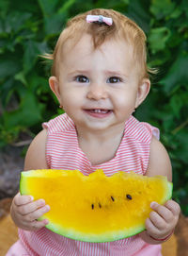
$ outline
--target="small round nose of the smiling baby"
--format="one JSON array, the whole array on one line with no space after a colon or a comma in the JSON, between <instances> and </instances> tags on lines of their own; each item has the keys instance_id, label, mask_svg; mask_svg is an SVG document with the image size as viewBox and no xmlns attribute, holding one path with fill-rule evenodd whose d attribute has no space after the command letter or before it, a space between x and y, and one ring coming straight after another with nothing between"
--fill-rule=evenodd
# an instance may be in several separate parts
<instances>
[{"instance_id":1,"label":"small round nose of the smiling baby","mask_svg":"<svg viewBox=\"0 0 188 256\"><path fill-rule=\"evenodd\" d=\"M88 86L87 98L100 100L108 96L107 88L102 83L92 83Z\"/></svg>"}]
</instances>

